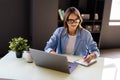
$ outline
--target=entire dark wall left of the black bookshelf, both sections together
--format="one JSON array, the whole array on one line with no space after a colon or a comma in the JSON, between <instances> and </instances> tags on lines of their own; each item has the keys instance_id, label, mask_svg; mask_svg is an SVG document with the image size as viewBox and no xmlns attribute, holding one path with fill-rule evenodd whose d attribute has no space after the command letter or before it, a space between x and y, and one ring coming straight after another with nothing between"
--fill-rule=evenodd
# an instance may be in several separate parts
<instances>
[{"instance_id":1,"label":"entire dark wall left of the black bookshelf, both sections together","mask_svg":"<svg viewBox=\"0 0 120 80\"><path fill-rule=\"evenodd\" d=\"M0 57L13 37L24 37L30 47L43 50L57 28L58 0L0 0Z\"/></svg>"}]
</instances>

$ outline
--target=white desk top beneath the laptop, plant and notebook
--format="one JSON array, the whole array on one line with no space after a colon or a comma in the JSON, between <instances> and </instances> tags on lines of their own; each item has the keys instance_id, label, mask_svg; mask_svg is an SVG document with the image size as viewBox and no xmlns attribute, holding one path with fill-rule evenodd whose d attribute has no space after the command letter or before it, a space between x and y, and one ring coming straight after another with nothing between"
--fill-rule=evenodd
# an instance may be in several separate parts
<instances>
[{"instance_id":1,"label":"white desk top beneath the laptop, plant and notebook","mask_svg":"<svg viewBox=\"0 0 120 80\"><path fill-rule=\"evenodd\" d=\"M69 61L80 57L68 56ZM16 58L14 52L0 60L0 78L17 80L120 80L120 59L98 58L97 63L84 67L79 65L71 74L27 63Z\"/></svg>"}]
</instances>

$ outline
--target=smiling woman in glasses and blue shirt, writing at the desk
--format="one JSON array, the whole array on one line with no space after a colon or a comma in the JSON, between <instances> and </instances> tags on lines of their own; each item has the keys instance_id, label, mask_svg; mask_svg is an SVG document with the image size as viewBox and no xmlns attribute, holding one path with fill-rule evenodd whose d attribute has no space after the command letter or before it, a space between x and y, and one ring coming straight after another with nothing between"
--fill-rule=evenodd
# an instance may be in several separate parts
<instances>
[{"instance_id":1,"label":"smiling woman in glasses and blue shirt, writing at the desk","mask_svg":"<svg viewBox=\"0 0 120 80\"><path fill-rule=\"evenodd\" d=\"M64 15L64 26L55 30L46 44L45 51L52 54L72 54L85 56L90 62L100 55L91 33L81 26L82 17L75 7L70 7Z\"/></svg>"}]
</instances>

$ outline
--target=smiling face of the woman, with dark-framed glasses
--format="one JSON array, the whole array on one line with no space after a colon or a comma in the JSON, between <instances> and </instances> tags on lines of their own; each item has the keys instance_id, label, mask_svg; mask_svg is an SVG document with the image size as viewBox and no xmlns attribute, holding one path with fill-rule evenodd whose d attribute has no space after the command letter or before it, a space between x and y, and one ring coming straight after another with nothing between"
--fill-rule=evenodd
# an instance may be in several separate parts
<instances>
[{"instance_id":1,"label":"smiling face of the woman, with dark-framed glasses","mask_svg":"<svg viewBox=\"0 0 120 80\"><path fill-rule=\"evenodd\" d=\"M75 14L70 14L67 20L67 25L69 31L76 31L77 26L79 25L80 19Z\"/></svg>"}]
</instances>

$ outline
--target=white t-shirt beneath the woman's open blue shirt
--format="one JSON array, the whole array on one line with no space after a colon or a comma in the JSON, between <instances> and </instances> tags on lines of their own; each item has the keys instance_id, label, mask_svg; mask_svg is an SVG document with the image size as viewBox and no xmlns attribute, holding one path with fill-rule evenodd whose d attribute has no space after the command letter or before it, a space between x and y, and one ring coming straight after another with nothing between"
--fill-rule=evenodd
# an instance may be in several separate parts
<instances>
[{"instance_id":1,"label":"white t-shirt beneath the woman's open blue shirt","mask_svg":"<svg viewBox=\"0 0 120 80\"><path fill-rule=\"evenodd\" d=\"M74 54L75 41L76 41L76 35L75 36L69 35L68 43L66 46L66 53L67 54Z\"/></svg>"}]
</instances>

